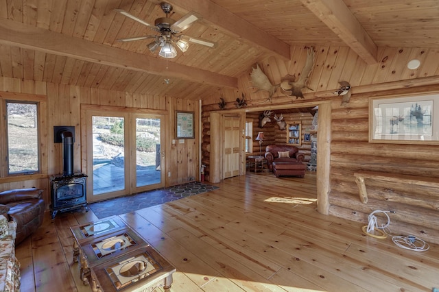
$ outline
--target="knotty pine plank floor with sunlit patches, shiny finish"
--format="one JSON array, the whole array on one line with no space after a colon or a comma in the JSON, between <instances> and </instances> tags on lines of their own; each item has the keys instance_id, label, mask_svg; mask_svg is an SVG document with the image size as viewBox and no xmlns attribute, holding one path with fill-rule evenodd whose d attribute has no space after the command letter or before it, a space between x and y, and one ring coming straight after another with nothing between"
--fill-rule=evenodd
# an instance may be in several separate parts
<instances>
[{"instance_id":1,"label":"knotty pine plank floor with sunlit patches, shiny finish","mask_svg":"<svg viewBox=\"0 0 439 292\"><path fill-rule=\"evenodd\" d=\"M363 223L316 211L316 175L251 173L219 189L125 215L123 221L177 269L174 292L431 291L439 287L438 246L396 247L361 232ZM72 260L69 227L93 212L47 212L16 247L21 291L91 291ZM391 228L391 226L390 226Z\"/></svg>"}]
</instances>

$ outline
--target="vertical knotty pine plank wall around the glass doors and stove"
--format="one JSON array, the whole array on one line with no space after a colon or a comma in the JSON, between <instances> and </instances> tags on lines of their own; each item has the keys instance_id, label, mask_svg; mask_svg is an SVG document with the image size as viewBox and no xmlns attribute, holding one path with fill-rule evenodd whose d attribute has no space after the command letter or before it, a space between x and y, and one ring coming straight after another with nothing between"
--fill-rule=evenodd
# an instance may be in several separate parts
<instances>
[{"instance_id":1,"label":"vertical knotty pine plank wall around the glass doors and stove","mask_svg":"<svg viewBox=\"0 0 439 292\"><path fill-rule=\"evenodd\" d=\"M0 91L12 93L29 93L47 95L47 139L48 169L43 169L47 175L62 173L62 145L54 143L54 125L74 125L74 171L86 173L82 155L81 132L81 105L93 104L98 106L115 106L120 108L142 108L165 110L165 169L166 186L180 184L199 177L199 151L198 151L198 117L200 114L198 101L179 99L174 97L158 97L139 93L126 93L115 90L103 90L99 88L85 88L69 86L65 84L53 84L49 82L33 82L19 80L10 77L0 77ZM195 113L194 129L195 138L180 141L175 140L175 110L193 111ZM172 142L175 142L174 144ZM163 148L162 148L163 149ZM167 173L171 176L168 177ZM91 174L88 174L91 175ZM50 204L49 178L39 180L23 180L19 182L1 183L0 191L11 188L36 187L43 188L44 199L47 208Z\"/></svg>"}]
</instances>

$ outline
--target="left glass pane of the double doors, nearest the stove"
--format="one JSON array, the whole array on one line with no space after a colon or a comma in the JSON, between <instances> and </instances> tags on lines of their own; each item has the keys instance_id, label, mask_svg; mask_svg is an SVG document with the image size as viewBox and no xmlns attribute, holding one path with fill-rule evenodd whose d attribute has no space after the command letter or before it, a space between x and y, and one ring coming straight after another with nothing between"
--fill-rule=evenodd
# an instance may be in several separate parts
<instances>
[{"instance_id":1,"label":"left glass pane of the double doors, nearest the stove","mask_svg":"<svg viewBox=\"0 0 439 292\"><path fill-rule=\"evenodd\" d=\"M125 119L92 117L93 195L125 189Z\"/></svg>"}]
</instances>

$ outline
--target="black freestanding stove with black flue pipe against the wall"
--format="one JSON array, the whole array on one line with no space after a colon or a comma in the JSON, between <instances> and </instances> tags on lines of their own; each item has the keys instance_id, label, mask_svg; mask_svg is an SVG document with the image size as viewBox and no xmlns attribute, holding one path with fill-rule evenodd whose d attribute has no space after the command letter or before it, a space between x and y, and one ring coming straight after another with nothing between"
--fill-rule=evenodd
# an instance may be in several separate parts
<instances>
[{"instance_id":1,"label":"black freestanding stove with black flue pipe against the wall","mask_svg":"<svg viewBox=\"0 0 439 292\"><path fill-rule=\"evenodd\" d=\"M62 140L62 175L50 178L52 219L58 212L83 208L88 211L86 202L86 177L84 173L73 172L74 133L61 129L55 133ZM56 140L57 141L57 140Z\"/></svg>"}]
</instances>

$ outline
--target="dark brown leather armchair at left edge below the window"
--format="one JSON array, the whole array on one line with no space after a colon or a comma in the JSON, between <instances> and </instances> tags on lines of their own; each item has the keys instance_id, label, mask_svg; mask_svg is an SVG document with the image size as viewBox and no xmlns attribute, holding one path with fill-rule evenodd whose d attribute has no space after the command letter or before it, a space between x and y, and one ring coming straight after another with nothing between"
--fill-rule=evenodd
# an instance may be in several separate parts
<instances>
[{"instance_id":1,"label":"dark brown leather armchair at left edge below the window","mask_svg":"<svg viewBox=\"0 0 439 292\"><path fill-rule=\"evenodd\" d=\"M15 244L18 245L43 224L45 202L43 190L20 188L0 193L0 214L16 221Z\"/></svg>"}]
</instances>

